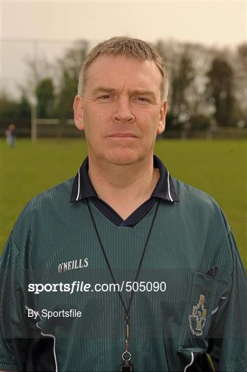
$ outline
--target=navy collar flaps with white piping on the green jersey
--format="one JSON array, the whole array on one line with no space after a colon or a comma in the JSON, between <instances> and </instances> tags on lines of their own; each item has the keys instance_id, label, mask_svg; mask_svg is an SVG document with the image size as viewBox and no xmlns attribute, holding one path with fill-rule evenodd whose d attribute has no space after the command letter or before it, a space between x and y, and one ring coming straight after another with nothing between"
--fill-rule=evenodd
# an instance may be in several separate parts
<instances>
[{"instance_id":1,"label":"navy collar flaps with white piping on the green jersey","mask_svg":"<svg viewBox=\"0 0 247 372\"><path fill-rule=\"evenodd\" d=\"M162 161L155 155L153 155L153 167L159 169L160 178L150 198L160 198L170 203L178 202L179 199L175 193L173 179ZM70 202L77 202L84 198L98 198L88 176L88 156L74 178Z\"/></svg>"}]
</instances>

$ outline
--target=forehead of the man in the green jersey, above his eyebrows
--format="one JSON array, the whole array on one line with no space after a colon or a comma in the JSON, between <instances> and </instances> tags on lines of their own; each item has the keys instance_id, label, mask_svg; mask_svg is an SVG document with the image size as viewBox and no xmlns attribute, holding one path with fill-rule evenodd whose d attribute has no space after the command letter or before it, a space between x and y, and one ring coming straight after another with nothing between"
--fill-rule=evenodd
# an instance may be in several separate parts
<instances>
[{"instance_id":1,"label":"forehead of the man in the green jersey, above his eyebrows","mask_svg":"<svg viewBox=\"0 0 247 372\"><path fill-rule=\"evenodd\" d=\"M85 88L111 84L116 89L127 85L131 88L151 89L160 92L162 75L154 61L139 61L126 56L98 56L86 73Z\"/></svg>"}]
</instances>

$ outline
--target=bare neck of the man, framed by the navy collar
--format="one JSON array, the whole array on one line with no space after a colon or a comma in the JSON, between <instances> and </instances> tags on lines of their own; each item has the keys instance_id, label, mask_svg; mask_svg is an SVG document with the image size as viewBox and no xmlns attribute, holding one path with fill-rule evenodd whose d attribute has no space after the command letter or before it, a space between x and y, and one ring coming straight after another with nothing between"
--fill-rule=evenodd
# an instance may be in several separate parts
<instances>
[{"instance_id":1,"label":"bare neck of the man, framed by the navy collar","mask_svg":"<svg viewBox=\"0 0 247 372\"><path fill-rule=\"evenodd\" d=\"M98 197L123 219L150 198L158 182L153 156L130 165L98 162L89 156L89 179Z\"/></svg>"}]
</instances>

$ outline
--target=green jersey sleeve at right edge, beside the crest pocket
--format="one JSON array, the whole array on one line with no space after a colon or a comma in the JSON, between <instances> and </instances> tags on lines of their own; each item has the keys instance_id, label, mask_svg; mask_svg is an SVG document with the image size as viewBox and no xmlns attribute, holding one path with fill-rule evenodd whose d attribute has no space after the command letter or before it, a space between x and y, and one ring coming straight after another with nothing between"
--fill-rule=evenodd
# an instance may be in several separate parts
<instances>
[{"instance_id":1,"label":"green jersey sleeve at right edge, beside the crest pocket","mask_svg":"<svg viewBox=\"0 0 247 372\"><path fill-rule=\"evenodd\" d=\"M228 231L228 260L232 272L211 327L210 355L216 371L247 371L247 285L235 238Z\"/></svg>"}]
</instances>

